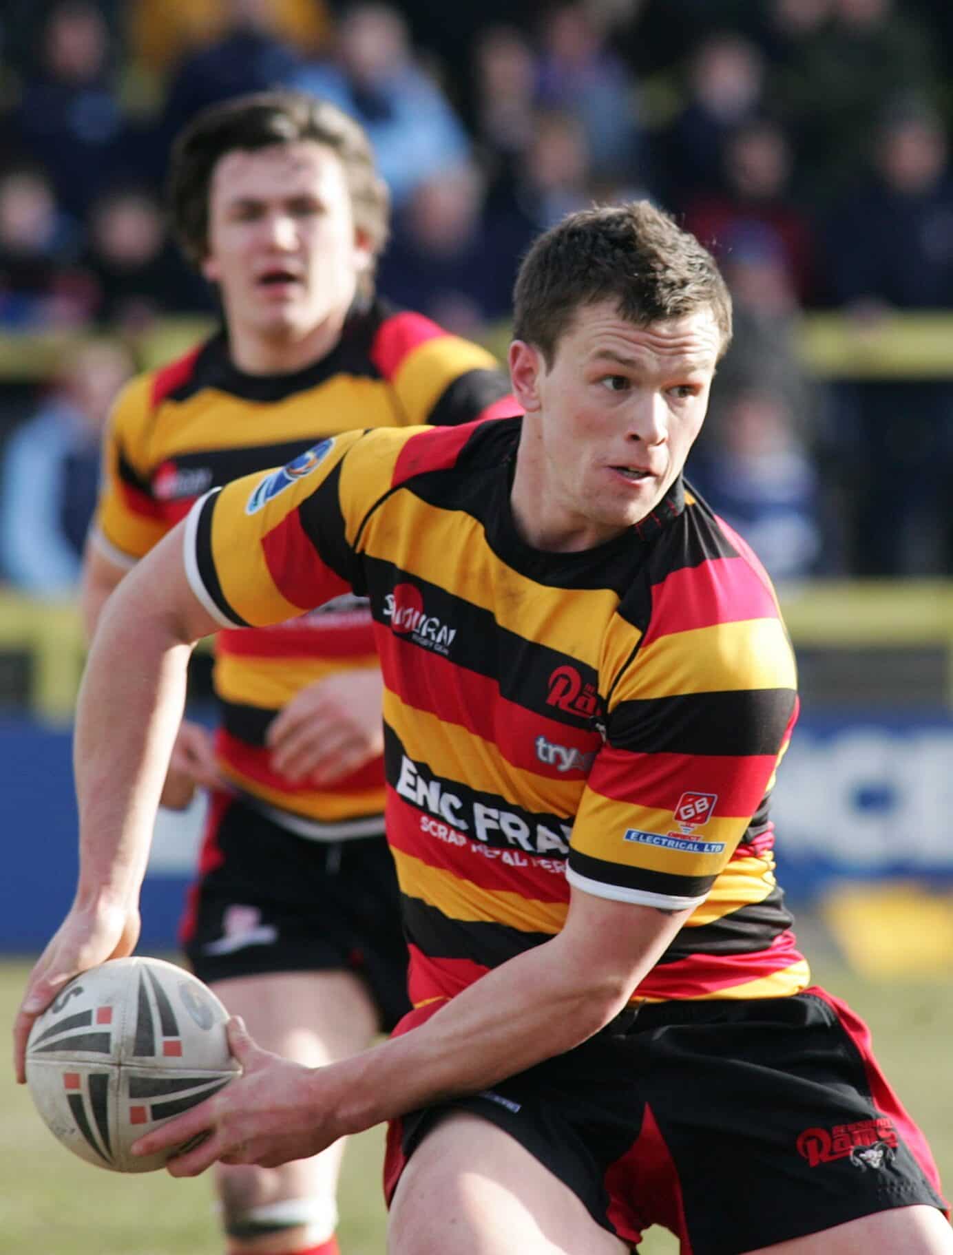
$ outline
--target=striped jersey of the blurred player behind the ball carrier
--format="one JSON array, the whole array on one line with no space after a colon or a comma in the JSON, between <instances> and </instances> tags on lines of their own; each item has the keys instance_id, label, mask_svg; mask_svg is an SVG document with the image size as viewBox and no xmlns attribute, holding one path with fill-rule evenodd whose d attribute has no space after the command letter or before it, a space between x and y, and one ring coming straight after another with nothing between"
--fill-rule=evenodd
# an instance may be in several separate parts
<instances>
[{"instance_id":1,"label":"striped jersey of the blurred player behind the ball carrier","mask_svg":"<svg viewBox=\"0 0 953 1255\"><path fill-rule=\"evenodd\" d=\"M353 312L338 346L295 374L244 374L218 335L121 397L94 540L109 558L132 565L208 488L290 462L323 435L467 423L500 409L512 414L516 403L486 350L382 301ZM220 633L215 688L226 774L286 826L328 838L380 832L379 758L316 789L277 776L265 748L269 723L304 685L375 664L367 600L349 592L288 624Z\"/></svg>"}]
</instances>

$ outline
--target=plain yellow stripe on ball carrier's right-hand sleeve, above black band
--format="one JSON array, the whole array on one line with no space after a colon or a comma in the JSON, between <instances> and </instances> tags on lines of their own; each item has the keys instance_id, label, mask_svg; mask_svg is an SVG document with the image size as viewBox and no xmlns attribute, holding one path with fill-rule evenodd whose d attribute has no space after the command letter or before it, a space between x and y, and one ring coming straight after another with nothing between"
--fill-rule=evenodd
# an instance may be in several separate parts
<instances>
[{"instance_id":1,"label":"plain yellow stripe on ball carrier's right-hand sleeve, above black band","mask_svg":"<svg viewBox=\"0 0 953 1255\"><path fill-rule=\"evenodd\" d=\"M778 619L672 633L644 646L629 698L741 689L794 689L795 664Z\"/></svg>"}]
</instances>

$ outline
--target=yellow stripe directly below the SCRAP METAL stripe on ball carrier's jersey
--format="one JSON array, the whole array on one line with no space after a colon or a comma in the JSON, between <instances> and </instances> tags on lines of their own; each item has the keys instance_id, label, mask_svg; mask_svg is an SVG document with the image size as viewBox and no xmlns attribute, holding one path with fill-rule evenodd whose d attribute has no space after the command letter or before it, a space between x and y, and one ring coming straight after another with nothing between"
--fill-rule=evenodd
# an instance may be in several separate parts
<instances>
[{"instance_id":1,"label":"yellow stripe directly below the SCRAP METAL stripe on ball carrier's jersey","mask_svg":"<svg viewBox=\"0 0 953 1255\"><path fill-rule=\"evenodd\" d=\"M413 855L390 848L401 891L434 906L447 919L462 924L502 924L520 932L554 936L566 922L566 902L541 902L522 894L481 889L450 871L429 867Z\"/></svg>"}]
</instances>

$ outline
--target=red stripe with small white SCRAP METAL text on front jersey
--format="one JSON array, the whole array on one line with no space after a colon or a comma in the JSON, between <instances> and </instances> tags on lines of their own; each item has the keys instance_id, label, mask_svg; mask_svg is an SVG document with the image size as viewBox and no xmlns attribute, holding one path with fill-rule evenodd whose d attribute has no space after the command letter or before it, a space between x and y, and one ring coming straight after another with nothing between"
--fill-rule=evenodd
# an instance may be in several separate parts
<instances>
[{"instance_id":1,"label":"red stripe with small white SCRAP METAL text on front jersey","mask_svg":"<svg viewBox=\"0 0 953 1255\"><path fill-rule=\"evenodd\" d=\"M561 832L557 836L565 840ZM550 856L530 855L519 846L490 846L473 836L470 827L455 828L439 816L418 809L390 786L387 788L387 840L401 853L490 894L516 894L536 902L569 901L565 855L555 850ZM503 855L509 855L510 861L503 861ZM516 856L525 861L515 865Z\"/></svg>"}]
</instances>

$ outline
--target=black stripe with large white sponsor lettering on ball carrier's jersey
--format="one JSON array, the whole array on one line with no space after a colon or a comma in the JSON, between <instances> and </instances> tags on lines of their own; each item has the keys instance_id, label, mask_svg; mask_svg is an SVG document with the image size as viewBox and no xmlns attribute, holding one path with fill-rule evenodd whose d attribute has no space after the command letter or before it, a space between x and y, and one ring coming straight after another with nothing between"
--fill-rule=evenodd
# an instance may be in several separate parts
<instances>
[{"instance_id":1,"label":"black stripe with large white sponsor lettering on ball carrier's jersey","mask_svg":"<svg viewBox=\"0 0 953 1255\"><path fill-rule=\"evenodd\" d=\"M384 774L390 788L411 806L446 820L492 850L517 850L546 858L564 858L569 850L568 816L525 811L498 793L485 793L437 776L427 763L404 752L388 724L384 724Z\"/></svg>"}]
</instances>

